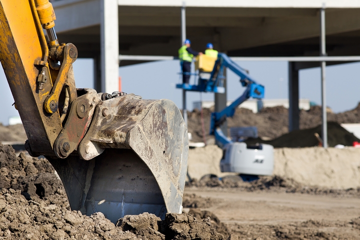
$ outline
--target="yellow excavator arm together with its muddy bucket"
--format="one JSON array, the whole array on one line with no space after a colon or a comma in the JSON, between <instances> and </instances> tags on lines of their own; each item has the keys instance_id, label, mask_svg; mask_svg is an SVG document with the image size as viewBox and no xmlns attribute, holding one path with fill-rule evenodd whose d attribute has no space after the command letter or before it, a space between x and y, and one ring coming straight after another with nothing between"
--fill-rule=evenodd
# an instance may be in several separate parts
<instances>
[{"instance_id":1,"label":"yellow excavator arm together with its muddy bucket","mask_svg":"<svg viewBox=\"0 0 360 240\"><path fill-rule=\"evenodd\" d=\"M54 166L72 210L113 222L181 212L188 138L179 109L166 99L76 89L77 49L58 43L55 19L48 0L0 0L0 61L26 150Z\"/></svg>"}]
</instances>

